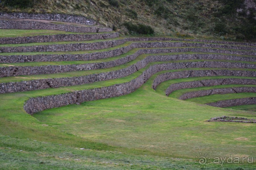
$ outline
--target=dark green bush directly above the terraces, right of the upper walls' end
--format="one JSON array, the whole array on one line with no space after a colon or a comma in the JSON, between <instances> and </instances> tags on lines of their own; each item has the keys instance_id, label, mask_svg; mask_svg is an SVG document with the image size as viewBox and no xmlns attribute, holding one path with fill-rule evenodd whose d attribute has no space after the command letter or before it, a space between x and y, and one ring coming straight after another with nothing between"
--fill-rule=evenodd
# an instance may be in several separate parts
<instances>
[{"instance_id":1,"label":"dark green bush directly above the terraces, right of the upper walls' end","mask_svg":"<svg viewBox=\"0 0 256 170\"><path fill-rule=\"evenodd\" d=\"M132 34L154 34L154 29L148 25L144 25L144 24L135 25L132 22L125 22L123 25Z\"/></svg>"}]
</instances>

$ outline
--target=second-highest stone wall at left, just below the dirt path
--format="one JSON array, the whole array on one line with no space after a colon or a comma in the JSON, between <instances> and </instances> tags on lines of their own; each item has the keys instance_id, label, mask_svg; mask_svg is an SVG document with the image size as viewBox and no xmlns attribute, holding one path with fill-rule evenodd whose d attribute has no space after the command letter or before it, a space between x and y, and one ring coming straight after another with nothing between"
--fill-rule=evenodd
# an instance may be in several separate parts
<instances>
[{"instance_id":1,"label":"second-highest stone wall at left, just below the dirt path","mask_svg":"<svg viewBox=\"0 0 256 170\"><path fill-rule=\"evenodd\" d=\"M69 24L54 24L49 22L40 21L24 21L24 20L4 20L0 19L0 29L49 29L68 31L75 33L98 33L98 32L110 32L113 31L111 28L101 27L86 27L86 26L75 26Z\"/></svg>"}]
</instances>

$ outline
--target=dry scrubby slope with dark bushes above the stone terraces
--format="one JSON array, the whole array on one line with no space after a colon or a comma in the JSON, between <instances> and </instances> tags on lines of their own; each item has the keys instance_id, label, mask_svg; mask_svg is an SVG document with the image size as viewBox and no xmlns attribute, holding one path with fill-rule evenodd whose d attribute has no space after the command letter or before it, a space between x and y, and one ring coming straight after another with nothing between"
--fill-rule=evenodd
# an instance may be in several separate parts
<instances>
[{"instance_id":1,"label":"dry scrubby slope with dark bushes above the stone terraces","mask_svg":"<svg viewBox=\"0 0 256 170\"><path fill-rule=\"evenodd\" d=\"M248 0L3 0L1 11L84 15L129 32L124 23L150 25L156 35L256 39L256 2ZM130 29L131 30L131 29Z\"/></svg>"}]
</instances>

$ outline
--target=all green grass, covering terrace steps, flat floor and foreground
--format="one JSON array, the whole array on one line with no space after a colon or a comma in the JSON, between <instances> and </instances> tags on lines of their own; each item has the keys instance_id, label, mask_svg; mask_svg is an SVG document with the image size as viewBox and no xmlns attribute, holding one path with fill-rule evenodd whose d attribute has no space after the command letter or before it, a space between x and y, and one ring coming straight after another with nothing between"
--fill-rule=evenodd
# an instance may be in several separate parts
<instances>
[{"instance_id":1,"label":"all green grass, covering terrace steps, flat floor and foreground","mask_svg":"<svg viewBox=\"0 0 256 170\"><path fill-rule=\"evenodd\" d=\"M32 36L58 34L58 31L45 30L0 30L5 36ZM1 33L1 32L0 32ZM116 39L122 39L119 37ZM110 40L110 39L108 39ZM101 42L93 40L83 42ZM79 41L80 42L80 41ZM31 45L70 44L77 42L33 43ZM128 46L125 42L119 46L91 51L72 52L20 52L1 53L1 55L36 55L36 54L86 54L110 51ZM0 45L24 46L22 45ZM186 47L181 47L186 48ZM193 48L193 47L189 47ZM86 64L114 61L134 54L135 48L120 56L89 61L26 62L0 64L8 66L44 66ZM236 51L236 50L230 50ZM47 75L23 75L1 77L0 83L30 81L45 78L85 76L127 68L138 61L156 55L177 54L217 54L217 53L164 53L142 54L136 59L106 69L72 71ZM221 54L226 55L226 54ZM255 57L236 55L243 57ZM253 170L256 163L215 164L214 157L255 157L256 124L232 122L207 122L217 116L238 116L256 118L255 105L218 108L205 103L256 97L256 93L214 94L188 100L178 98L187 92L213 88L256 87L256 85L218 85L211 87L176 90L169 96L165 90L173 83L206 79L240 78L241 76L204 76L172 79L152 88L154 79L167 72L183 70L223 70L223 68L186 68L158 72L151 76L136 91L115 97L80 105L68 105L47 109L29 115L23 105L32 97L64 94L77 90L101 88L118 83L129 82L140 76L151 65L161 63L179 63L191 61L226 61L226 60L178 60L148 63L145 68L135 73L101 82L60 88L48 88L16 93L0 94L0 169L174 169L174 170ZM231 63L256 62L226 61ZM226 69L250 70L256 69ZM83 149L80 149L83 148ZM206 165L199 164L199 157L207 154Z\"/></svg>"}]
</instances>

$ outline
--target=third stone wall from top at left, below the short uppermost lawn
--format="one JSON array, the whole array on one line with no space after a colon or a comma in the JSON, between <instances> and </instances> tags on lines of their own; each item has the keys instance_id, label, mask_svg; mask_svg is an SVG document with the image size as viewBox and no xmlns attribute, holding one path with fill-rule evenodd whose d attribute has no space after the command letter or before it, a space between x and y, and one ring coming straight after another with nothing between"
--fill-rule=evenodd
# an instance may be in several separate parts
<instances>
[{"instance_id":1,"label":"third stone wall from top at left, below the short uppermost lawn","mask_svg":"<svg viewBox=\"0 0 256 170\"><path fill-rule=\"evenodd\" d=\"M0 38L0 44L24 44L35 42L57 42L57 41L87 41L95 39L110 39L119 37L119 33L100 33L100 34L56 34L56 35L37 35L29 37L4 37Z\"/></svg>"}]
</instances>

